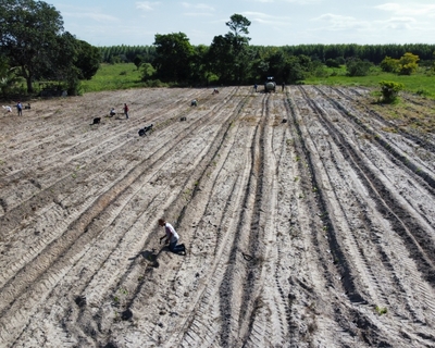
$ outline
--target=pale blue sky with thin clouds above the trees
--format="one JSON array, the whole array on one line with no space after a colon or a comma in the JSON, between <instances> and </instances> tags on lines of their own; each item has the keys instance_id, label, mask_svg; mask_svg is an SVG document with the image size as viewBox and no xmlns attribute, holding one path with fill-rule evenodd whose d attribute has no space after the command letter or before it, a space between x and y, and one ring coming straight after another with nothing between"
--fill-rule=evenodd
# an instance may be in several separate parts
<instances>
[{"instance_id":1,"label":"pale blue sky with thin clouds above the trees","mask_svg":"<svg viewBox=\"0 0 435 348\"><path fill-rule=\"evenodd\" d=\"M191 45L226 34L238 13L251 21L250 45L435 44L434 0L46 0L64 29L94 46L152 45L182 32Z\"/></svg>"}]
</instances>

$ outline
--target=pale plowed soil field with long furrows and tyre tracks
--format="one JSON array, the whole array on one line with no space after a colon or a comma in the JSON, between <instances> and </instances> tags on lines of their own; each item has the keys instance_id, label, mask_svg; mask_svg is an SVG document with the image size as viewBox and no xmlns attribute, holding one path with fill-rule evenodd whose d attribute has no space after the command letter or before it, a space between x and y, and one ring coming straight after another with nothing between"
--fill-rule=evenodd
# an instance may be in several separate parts
<instances>
[{"instance_id":1,"label":"pale plowed soil field with long furrows and tyre tracks","mask_svg":"<svg viewBox=\"0 0 435 348\"><path fill-rule=\"evenodd\" d=\"M135 89L2 114L0 346L434 347L435 103L372 101Z\"/></svg>"}]
</instances>

